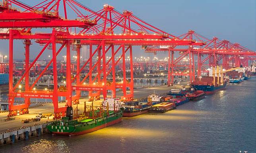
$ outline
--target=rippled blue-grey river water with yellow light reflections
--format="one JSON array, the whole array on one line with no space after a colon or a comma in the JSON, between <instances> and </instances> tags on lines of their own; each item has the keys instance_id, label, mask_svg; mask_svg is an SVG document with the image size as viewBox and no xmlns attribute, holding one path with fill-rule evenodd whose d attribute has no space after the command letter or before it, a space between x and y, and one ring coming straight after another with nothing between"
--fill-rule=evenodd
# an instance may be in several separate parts
<instances>
[{"instance_id":1,"label":"rippled blue-grey river water with yellow light reflections","mask_svg":"<svg viewBox=\"0 0 256 153\"><path fill-rule=\"evenodd\" d=\"M31 138L0 147L27 153L256 153L256 77L163 114L123 118L80 136Z\"/></svg>"}]
</instances>

